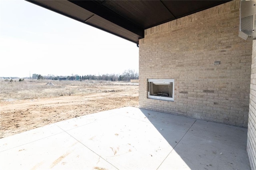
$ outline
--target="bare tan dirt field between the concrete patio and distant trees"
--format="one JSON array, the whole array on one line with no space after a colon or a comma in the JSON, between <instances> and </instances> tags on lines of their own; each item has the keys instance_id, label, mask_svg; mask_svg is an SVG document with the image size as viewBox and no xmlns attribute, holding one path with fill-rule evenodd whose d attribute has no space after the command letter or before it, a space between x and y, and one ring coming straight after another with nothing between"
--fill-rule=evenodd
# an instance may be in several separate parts
<instances>
[{"instance_id":1,"label":"bare tan dirt field between the concrete patio and distant trees","mask_svg":"<svg viewBox=\"0 0 256 170\"><path fill-rule=\"evenodd\" d=\"M31 97L24 94L25 90L30 91L25 89L28 82L23 86L20 82L7 84L15 86L16 83L23 87L17 92L12 92L14 94L7 94L11 90L7 90L7 85L4 88L4 83L1 82L0 138L82 115L125 106L138 107L138 84L135 83L81 81L75 84L58 84L41 89L40 91L44 91L43 95L33 92L36 96L34 98L33 95ZM44 88L47 86L45 82L34 84L40 84ZM49 95L51 91L56 93L57 90L62 91L58 93L60 96ZM19 97L15 97L15 93L30 97L17 99Z\"/></svg>"}]
</instances>

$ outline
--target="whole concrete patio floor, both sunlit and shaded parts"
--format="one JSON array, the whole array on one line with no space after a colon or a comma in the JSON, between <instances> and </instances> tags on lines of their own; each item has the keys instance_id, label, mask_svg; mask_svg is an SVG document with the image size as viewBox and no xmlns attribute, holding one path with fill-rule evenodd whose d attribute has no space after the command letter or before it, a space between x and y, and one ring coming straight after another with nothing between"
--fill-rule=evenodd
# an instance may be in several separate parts
<instances>
[{"instance_id":1,"label":"whole concrete patio floor, both sunlit and shaded parts","mask_svg":"<svg viewBox=\"0 0 256 170\"><path fill-rule=\"evenodd\" d=\"M249 170L247 129L124 107L0 139L0 170Z\"/></svg>"}]
</instances>

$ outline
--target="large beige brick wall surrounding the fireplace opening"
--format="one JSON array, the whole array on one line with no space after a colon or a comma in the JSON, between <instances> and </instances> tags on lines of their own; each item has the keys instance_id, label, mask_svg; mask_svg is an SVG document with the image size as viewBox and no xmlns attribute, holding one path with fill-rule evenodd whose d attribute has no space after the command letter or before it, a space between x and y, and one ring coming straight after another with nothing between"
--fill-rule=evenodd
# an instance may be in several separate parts
<instances>
[{"instance_id":1,"label":"large beige brick wall surrounding the fireplace opening","mask_svg":"<svg viewBox=\"0 0 256 170\"><path fill-rule=\"evenodd\" d=\"M227 2L145 30L140 108L247 127L252 41L238 37L239 5ZM174 79L174 102L147 99L147 79Z\"/></svg>"}]
</instances>

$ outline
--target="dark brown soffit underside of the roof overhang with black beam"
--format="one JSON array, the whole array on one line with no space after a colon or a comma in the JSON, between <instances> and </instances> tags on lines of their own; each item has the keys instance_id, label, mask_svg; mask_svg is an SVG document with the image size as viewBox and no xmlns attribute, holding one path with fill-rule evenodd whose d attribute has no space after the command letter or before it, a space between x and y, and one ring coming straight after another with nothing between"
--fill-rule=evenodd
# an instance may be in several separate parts
<instances>
[{"instance_id":1,"label":"dark brown soffit underside of the roof overhang with black beam","mask_svg":"<svg viewBox=\"0 0 256 170\"><path fill-rule=\"evenodd\" d=\"M74 20L138 43L144 30L230 0L28 0Z\"/></svg>"}]
</instances>

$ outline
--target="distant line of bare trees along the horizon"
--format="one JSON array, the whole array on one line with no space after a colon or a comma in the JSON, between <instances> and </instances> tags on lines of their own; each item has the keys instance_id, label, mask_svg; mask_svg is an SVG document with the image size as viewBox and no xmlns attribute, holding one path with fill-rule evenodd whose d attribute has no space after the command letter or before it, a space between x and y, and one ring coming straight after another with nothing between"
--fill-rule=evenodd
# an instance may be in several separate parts
<instances>
[{"instance_id":1,"label":"distant line of bare trees along the horizon","mask_svg":"<svg viewBox=\"0 0 256 170\"><path fill-rule=\"evenodd\" d=\"M47 79L47 80L59 80L62 77L66 77L67 80L76 80L76 76L55 76L48 74L42 76L40 74L33 74L32 79ZM121 75L118 74L103 74L103 75L82 75L79 76L80 80L106 80L106 81L130 81L131 79L139 79L139 75L134 70L125 70Z\"/></svg>"}]
</instances>

